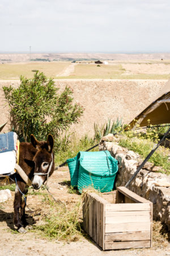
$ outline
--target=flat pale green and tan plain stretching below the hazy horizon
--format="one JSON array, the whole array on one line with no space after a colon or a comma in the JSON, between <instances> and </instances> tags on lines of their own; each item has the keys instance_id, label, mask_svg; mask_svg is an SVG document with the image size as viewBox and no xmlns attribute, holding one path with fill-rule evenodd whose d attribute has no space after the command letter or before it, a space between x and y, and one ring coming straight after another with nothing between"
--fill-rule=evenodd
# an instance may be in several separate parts
<instances>
[{"instance_id":1,"label":"flat pale green and tan plain stretching below the hazy horizon","mask_svg":"<svg viewBox=\"0 0 170 256\"><path fill-rule=\"evenodd\" d=\"M130 64L134 66L134 63ZM170 71L169 63L159 63L161 72L159 67L157 68L158 72L156 72L156 69L153 72L153 67L156 63L145 63L147 66L143 70L140 69L141 65L139 64L142 63L135 63L136 68L130 72L123 68L123 62L122 64L100 64L99 66L92 63L78 63L73 66L70 72L66 71L67 67L73 65L71 61L0 64L0 80L18 80L20 75L31 78L36 70L44 72L47 77L52 77L53 79L170 79L170 72L167 72L167 68ZM151 71L151 73L148 71Z\"/></svg>"}]
</instances>

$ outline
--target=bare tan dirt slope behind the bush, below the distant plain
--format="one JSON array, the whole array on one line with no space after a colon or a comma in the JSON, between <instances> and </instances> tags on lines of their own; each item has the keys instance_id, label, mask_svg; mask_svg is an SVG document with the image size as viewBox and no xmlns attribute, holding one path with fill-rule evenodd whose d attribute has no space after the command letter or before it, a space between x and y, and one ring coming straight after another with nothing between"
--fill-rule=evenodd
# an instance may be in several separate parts
<instances>
[{"instance_id":1,"label":"bare tan dirt slope behind the bush, below the distant plain","mask_svg":"<svg viewBox=\"0 0 170 256\"><path fill-rule=\"evenodd\" d=\"M103 124L122 118L129 123L137 114L150 104L160 92L167 80L55 80L58 88L65 86L73 89L76 102L84 107L80 122L72 127L78 136L94 134L94 122ZM8 120L7 106L2 86L18 86L19 81L0 81L0 112L1 122ZM6 127L7 129L7 127ZM6 130L4 130L6 131Z\"/></svg>"}]
</instances>

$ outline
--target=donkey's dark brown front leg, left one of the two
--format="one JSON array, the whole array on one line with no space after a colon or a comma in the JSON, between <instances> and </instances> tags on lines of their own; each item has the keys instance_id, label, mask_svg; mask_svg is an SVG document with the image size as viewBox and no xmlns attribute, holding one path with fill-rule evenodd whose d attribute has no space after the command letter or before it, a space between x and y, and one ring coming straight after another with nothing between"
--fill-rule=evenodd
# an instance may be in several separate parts
<instances>
[{"instance_id":1,"label":"donkey's dark brown front leg, left one of the two","mask_svg":"<svg viewBox=\"0 0 170 256\"><path fill-rule=\"evenodd\" d=\"M19 209L21 207L21 200L22 200L22 193L20 193L20 191L22 192L24 191L25 184L23 182L18 181L18 186L16 186L15 198L14 198L14 225L19 230L20 228L22 228L22 224L20 222L20 214L19 214ZM21 229L21 232L24 233L24 229L23 230L22 229Z\"/></svg>"}]
</instances>

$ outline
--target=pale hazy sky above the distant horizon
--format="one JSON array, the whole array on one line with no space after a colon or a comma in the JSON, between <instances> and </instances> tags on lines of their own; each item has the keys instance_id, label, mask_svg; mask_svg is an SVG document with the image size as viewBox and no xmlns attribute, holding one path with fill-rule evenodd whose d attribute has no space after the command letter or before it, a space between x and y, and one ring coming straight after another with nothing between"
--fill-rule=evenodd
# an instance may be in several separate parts
<instances>
[{"instance_id":1,"label":"pale hazy sky above the distant horizon","mask_svg":"<svg viewBox=\"0 0 170 256\"><path fill-rule=\"evenodd\" d=\"M169 0L0 0L0 52L170 52Z\"/></svg>"}]
</instances>

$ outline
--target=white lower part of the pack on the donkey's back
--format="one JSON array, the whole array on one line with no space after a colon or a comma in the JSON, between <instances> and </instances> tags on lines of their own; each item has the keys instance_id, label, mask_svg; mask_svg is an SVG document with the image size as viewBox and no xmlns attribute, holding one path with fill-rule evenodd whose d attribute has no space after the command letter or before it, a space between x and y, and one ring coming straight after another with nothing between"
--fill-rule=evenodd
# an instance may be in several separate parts
<instances>
[{"instance_id":1,"label":"white lower part of the pack on the donkey's back","mask_svg":"<svg viewBox=\"0 0 170 256\"><path fill-rule=\"evenodd\" d=\"M0 154L0 176L14 174L16 163L16 152L7 151Z\"/></svg>"}]
</instances>

